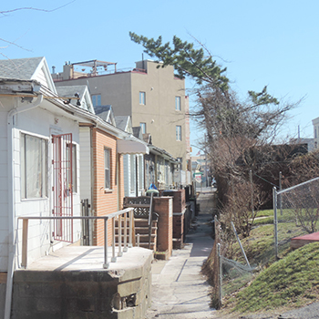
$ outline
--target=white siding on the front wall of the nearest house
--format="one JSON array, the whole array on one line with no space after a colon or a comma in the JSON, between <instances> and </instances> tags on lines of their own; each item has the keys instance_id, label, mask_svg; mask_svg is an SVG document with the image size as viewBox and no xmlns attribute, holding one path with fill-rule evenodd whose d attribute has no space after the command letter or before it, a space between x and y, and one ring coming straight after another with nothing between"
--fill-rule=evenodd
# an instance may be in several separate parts
<instances>
[{"instance_id":1,"label":"white siding on the front wall of the nearest house","mask_svg":"<svg viewBox=\"0 0 319 319\"><path fill-rule=\"evenodd\" d=\"M8 257L8 216L9 213L9 202L8 196L8 171L9 167L7 164L7 114L11 108L15 106L23 105L20 99L2 99L2 104L4 105L4 111L0 112L0 271L7 270L7 257ZM16 105L15 105L16 104ZM44 109L44 108L46 109ZM52 143L51 135L56 132L61 133L72 133L73 141L78 146L78 125L77 123L65 116L57 116L51 113L47 109L48 102L44 101L40 107L36 109L30 109L26 112L15 115L15 128L13 129L13 168L14 168L14 180L13 180L13 196L15 201L14 214L15 214L15 225L14 230L10 232L17 232L17 263L21 262L21 252L22 252L22 221L17 221L17 217L23 216L51 216L52 213ZM58 122L58 126L57 123ZM20 169L20 139L21 133L26 133L32 136L40 137L47 140L47 194L48 197L41 199L22 199L21 198L21 169ZM79 185L78 180L78 159L77 154L77 185ZM80 212L80 201L79 201L79 189L74 192L73 196L73 215L77 216ZM10 203L11 204L11 203ZM28 262L33 262L37 258L46 254L51 247L53 222L51 221L29 221L28 229ZM80 221L74 221L73 223L73 242L77 242L80 238L81 233L81 223Z\"/></svg>"}]
</instances>

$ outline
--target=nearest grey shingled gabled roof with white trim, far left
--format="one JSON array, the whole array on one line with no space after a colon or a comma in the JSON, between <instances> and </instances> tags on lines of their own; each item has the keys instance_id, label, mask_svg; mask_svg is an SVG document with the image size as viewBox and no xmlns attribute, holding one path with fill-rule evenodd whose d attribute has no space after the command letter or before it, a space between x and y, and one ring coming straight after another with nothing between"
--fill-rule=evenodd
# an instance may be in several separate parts
<instances>
[{"instance_id":1,"label":"nearest grey shingled gabled roof with white trim, far left","mask_svg":"<svg viewBox=\"0 0 319 319\"><path fill-rule=\"evenodd\" d=\"M57 93L45 57L28 57L0 60L0 78L37 80Z\"/></svg>"}]
</instances>

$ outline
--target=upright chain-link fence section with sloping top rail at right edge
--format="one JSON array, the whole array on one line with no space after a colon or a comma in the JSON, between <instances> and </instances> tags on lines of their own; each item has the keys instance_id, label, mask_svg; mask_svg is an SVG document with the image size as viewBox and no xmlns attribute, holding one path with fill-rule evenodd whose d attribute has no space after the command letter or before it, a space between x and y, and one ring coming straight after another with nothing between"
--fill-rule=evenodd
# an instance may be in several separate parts
<instances>
[{"instance_id":1,"label":"upright chain-link fence section with sloping top rail at right edge","mask_svg":"<svg viewBox=\"0 0 319 319\"><path fill-rule=\"evenodd\" d=\"M319 178L285 190L273 189L274 255L282 258L294 237L317 232Z\"/></svg>"}]
</instances>

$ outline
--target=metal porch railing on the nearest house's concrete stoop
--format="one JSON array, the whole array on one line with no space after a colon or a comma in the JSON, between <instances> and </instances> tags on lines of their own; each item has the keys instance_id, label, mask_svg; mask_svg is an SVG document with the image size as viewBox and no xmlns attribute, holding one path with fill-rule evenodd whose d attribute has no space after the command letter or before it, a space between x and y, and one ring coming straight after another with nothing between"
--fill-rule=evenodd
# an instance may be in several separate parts
<instances>
[{"instance_id":1,"label":"metal porch railing on the nearest house's concrete stoop","mask_svg":"<svg viewBox=\"0 0 319 319\"><path fill-rule=\"evenodd\" d=\"M108 220L112 221L112 257L111 262L116 262L117 257L115 254L115 219L118 218L118 257L123 255L123 252L127 252L128 248L132 247L135 243L134 234L134 215L133 208L127 208L122 211L116 211L107 216L47 216L47 217L37 217L37 216L24 216L18 217L18 220L23 221L22 225L22 262L21 266L27 266L27 234L28 234L28 222L29 220L104 220L104 263L103 268L108 269ZM129 216L128 216L129 214ZM129 217L129 243L128 243L128 217ZM124 220L124 242L122 247L122 219ZM123 248L123 249L122 249Z\"/></svg>"}]
</instances>

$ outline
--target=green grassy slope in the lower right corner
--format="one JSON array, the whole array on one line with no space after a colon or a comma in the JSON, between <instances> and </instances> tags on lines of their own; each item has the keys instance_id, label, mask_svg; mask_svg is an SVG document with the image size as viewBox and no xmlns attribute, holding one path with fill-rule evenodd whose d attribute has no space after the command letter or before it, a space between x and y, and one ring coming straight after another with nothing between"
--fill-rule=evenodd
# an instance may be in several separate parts
<instances>
[{"instance_id":1,"label":"green grassy slope in the lower right corner","mask_svg":"<svg viewBox=\"0 0 319 319\"><path fill-rule=\"evenodd\" d=\"M274 262L238 293L234 310L256 312L298 307L319 298L319 242L305 245Z\"/></svg>"}]
</instances>

